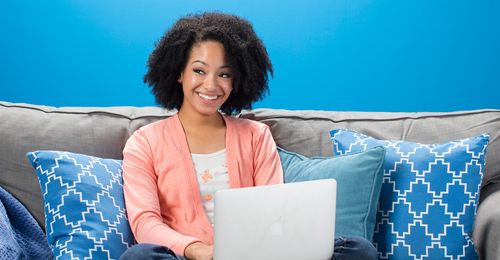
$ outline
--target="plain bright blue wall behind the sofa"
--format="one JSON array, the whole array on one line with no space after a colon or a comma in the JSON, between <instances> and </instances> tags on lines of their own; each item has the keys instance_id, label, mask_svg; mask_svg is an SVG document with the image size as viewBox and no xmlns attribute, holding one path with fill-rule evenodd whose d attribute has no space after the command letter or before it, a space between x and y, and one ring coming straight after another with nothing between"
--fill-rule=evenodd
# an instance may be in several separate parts
<instances>
[{"instance_id":1,"label":"plain bright blue wall behind the sofa","mask_svg":"<svg viewBox=\"0 0 500 260\"><path fill-rule=\"evenodd\" d=\"M250 20L275 67L255 107L500 108L500 1L74 0L0 2L0 100L154 105L154 43L186 13Z\"/></svg>"}]
</instances>

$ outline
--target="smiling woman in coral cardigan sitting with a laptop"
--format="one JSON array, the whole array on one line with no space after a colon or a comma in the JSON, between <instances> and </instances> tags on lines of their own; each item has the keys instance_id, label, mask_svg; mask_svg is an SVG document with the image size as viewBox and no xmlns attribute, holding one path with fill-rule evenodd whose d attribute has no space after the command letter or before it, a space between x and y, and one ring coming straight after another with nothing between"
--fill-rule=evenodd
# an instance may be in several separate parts
<instances>
[{"instance_id":1,"label":"smiling woman in coral cardigan sitting with a laptop","mask_svg":"<svg viewBox=\"0 0 500 260\"><path fill-rule=\"evenodd\" d=\"M122 259L212 259L215 192L283 183L269 128L231 116L266 94L271 62L250 23L203 13L177 21L148 68L156 101L178 113L136 131L123 151L127 214L139 244ZM376 257L358 238L337 239L336 248Z\"/></svg>"}]
</instances>

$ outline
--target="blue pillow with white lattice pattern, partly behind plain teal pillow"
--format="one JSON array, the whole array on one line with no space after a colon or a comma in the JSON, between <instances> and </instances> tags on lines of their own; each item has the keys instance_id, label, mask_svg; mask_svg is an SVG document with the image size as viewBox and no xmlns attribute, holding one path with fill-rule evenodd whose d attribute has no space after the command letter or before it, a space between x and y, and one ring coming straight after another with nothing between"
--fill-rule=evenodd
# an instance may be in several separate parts
<instances>
[{"instance_id":1,"label":"blue pillow with white lattice pattern, partly behind plain teal pillow","mask_svg":"<svg viewBox=\"0 0 500 260\"><path fill-rule=\"evenodd\" d=\"M472 230L489 136L443 144L330 131L335 155L386 148L374 243L383 259L477 259Z\"/></svg>"}]
</instances>

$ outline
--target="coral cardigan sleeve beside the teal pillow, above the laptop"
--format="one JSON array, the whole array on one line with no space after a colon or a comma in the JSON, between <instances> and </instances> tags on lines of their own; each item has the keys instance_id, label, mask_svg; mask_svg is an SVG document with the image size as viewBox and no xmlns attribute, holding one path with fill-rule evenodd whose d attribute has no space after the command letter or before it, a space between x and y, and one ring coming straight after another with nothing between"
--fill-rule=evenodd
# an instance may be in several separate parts
<instances>
[{"instance_id":1,"label":"coral cardigan sleeve beside the teal pillow, above the laptop","mask_svg":"<svg viewBox=\"0 0 500 260\"><path fill-rule=\"evenodd\" d=\"M254 147L255 186L283 183L283 168L269 126L258 128Z\"/></svg>"}]
</instances>

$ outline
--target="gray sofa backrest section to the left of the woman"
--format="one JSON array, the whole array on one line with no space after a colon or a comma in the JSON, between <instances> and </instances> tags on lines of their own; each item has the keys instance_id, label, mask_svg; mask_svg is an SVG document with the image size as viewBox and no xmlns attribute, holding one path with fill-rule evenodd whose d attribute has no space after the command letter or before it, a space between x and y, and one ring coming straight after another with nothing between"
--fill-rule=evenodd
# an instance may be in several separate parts
<instances>
[{"instance_id":1,"label":"gray sofa backrest section to the left of the woman","mask_svg":"<svg viewBox=\"0 0 500 260\"><path fill-rule=\"evenodd\" d=\"M0 186L43 227L40 186L27 152L60 150L121 159L136 129L172 113L154 107L55 108L0 102Z\"/></svg>"}]
</instances>

